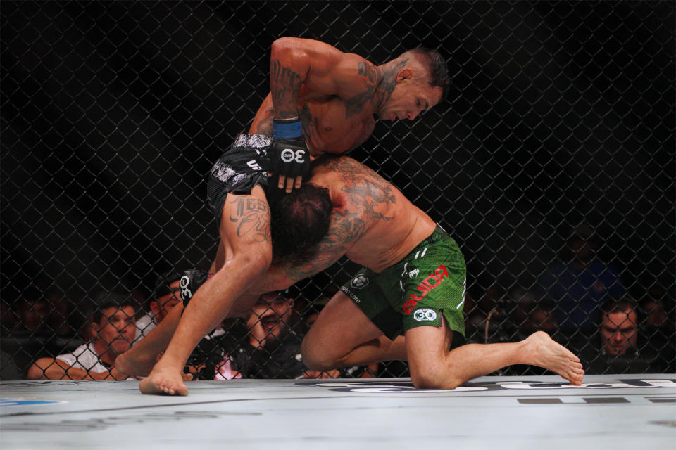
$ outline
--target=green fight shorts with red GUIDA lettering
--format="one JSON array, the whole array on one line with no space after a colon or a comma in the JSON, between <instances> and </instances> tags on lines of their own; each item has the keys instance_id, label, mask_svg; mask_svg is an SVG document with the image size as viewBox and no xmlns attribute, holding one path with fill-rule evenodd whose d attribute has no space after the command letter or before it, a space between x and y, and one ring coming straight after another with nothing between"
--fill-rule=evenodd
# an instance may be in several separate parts
<instances>
[{"instance_id":1,"label":"green fight shorts with red GUIDA lettering","mask_svg":"<svg viewBox=\"0 0 676 450\"><path fill-rule=\"evenodd\" d=\"M453 333L453 344L464 342L465 258L458 244L437 227L399 263L380 274L363 268L342 290L394 340L418 326L442 326Z\"/></svg>"}]
</instances>

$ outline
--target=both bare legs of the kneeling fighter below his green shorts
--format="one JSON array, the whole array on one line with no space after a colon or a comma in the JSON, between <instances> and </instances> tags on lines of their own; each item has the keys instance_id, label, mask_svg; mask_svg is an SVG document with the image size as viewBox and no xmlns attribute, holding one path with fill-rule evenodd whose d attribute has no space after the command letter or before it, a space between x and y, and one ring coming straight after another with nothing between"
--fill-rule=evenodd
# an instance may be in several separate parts
<instances>
[{"instance_id":1,"label":"both bare legs of the kneeling fighter below his green shorts","mask_svg":"<svg viewBox=\"0 0 676 450\"><path fill-rule=\"evenodd\" d=\"M582 383L580 359L542 331L521 342L468 344L452 349L446 325L420 326L392 341L342 292L326 305L303 340L303 362L316 371L408 359L416 387L453 389L513 364L549 369Z\"/></svg>"}]
</instances>

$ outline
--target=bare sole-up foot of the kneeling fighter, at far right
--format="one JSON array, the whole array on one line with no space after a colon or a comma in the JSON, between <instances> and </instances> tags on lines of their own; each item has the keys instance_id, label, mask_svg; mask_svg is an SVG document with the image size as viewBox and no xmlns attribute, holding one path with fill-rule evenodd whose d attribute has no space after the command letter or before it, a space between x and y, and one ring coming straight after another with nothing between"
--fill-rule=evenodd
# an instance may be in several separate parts
<instances>
[{"instance_id":1,"label":"bare sole-up foot of the kneeling fighter, at far right","mask_svg":"<svg viewBox=\"0 0 676 450\"><path fill-rule=\"evenodd\" d=\"M584 371L580 358L563 345L554 342L547 333L536 331L523 342L526 346L527 364L556 372L573 385L582 384Z\"/></svg>"}]
</instances>

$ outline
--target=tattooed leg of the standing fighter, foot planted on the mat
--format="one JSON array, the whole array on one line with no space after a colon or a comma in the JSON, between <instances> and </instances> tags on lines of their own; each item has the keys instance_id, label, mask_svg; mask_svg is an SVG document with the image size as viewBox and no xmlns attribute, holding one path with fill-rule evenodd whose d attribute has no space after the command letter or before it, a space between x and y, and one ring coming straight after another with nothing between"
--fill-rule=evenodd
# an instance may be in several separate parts
<instances>
[{"instance_id":1,"label":"tattooed leg of the standing fighter, foot planted on the mat","mask_svg":"<svg viewBox=\"0 0 676 450\"><path fill-rule=\"evenodd\" d=\"M139 385L144 394L187 395L181 373L189 354L270 266L270 207L261 186L255 186L251 195L227 195L219 233L223 248L217 259L225 256L223 266L193 294L166 352ZM251 301L251 297L243 299ZM252 304L237 304L236 309Z\"/></svg>"}]
</instances>

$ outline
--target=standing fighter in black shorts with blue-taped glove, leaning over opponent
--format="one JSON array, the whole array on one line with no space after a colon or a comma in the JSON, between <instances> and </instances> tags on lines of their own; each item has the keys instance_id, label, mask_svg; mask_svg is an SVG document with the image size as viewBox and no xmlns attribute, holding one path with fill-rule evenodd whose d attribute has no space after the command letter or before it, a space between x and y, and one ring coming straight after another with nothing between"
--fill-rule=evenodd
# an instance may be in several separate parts
<instances>
[{"instance_id":1,"label":"standing fighter in black shorts with blue-taped glove, leaning over opponent","mask_svg":"<svg viewBox=\"0 0 676 450\"><path fill-rule=\"evenodd\" d=\"M181 371L197 342L256 297L241 297L272 259L268 172L292 191L307 174L311 157L344 153L363 143L384 120L413 120L437 105L449 85L438 52L413 49L389 63L374 65L361 56L308 39L277 39L270 54L270 94L258 109L249 134L240 134L216 162L208 200L219 221L220 243L211 278L184 309L176 332L148 378L144 393L187 394ZM273 178L275 180L275 178ZM312 215L310 211L308 214ZM325 229L310 217L297 233L318 242Z\"/></svg>"}]
</instances>

